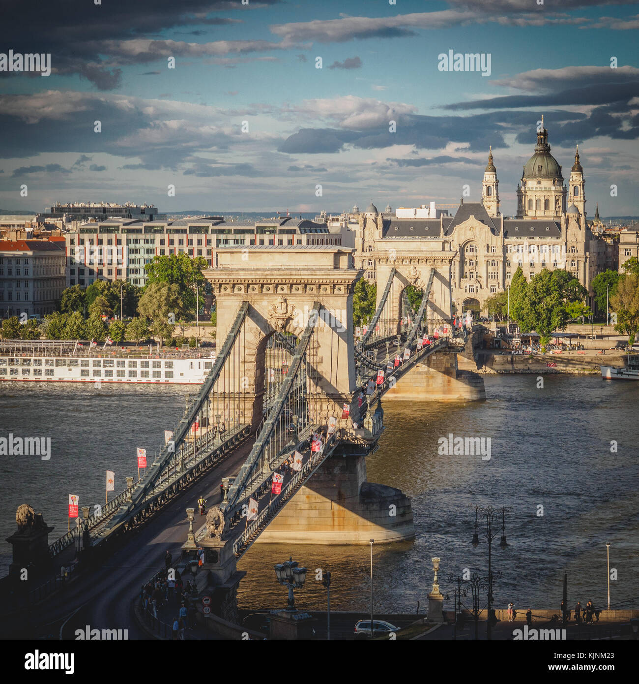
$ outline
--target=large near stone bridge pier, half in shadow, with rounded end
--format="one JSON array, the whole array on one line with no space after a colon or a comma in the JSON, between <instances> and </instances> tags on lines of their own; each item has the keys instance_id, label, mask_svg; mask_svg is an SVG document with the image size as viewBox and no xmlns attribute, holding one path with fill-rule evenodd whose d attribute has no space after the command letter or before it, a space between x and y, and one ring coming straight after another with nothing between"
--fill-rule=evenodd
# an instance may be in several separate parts
<instances>
[{"instance_id":1,"label":"large near stone bridge pier, half in shadow, with rounded end","mask_svg":"<svg viewBox=\"0 0 639 684\"><path fill-rule=\"evenodd\" d=\"M410 499L366 482L364 454L344 447L319 466L256 543L368 544L414 536Z\"/></svg>"}]
</instances>

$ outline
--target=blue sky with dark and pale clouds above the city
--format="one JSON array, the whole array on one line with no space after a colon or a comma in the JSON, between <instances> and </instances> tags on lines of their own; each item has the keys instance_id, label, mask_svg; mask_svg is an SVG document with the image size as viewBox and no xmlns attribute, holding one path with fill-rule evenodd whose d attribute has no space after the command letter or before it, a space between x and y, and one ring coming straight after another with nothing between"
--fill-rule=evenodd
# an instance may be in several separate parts
<instances>
[{"instance_id":1,"label":"blue sky with dark and pale clouds above the city","mask_svg":"<svg viewBox=\"0 0 639 684\"><path fill-rule=\"evenodd\" d=\"M513 215L543 114L566 181L579 145L588 215L639 214L638 3L1 1L0 53L51 74L0 71L0 209L478 201L492 145ZM449 51L483 73L441 70Z\"/></svg>"}]
</instances>

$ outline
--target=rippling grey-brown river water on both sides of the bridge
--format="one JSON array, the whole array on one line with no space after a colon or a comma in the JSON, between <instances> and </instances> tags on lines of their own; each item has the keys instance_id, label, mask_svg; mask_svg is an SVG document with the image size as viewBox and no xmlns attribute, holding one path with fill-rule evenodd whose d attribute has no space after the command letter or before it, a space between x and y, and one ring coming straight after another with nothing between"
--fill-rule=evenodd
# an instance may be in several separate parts
<instances>
[{"instance_id":1,"label":"rippling grey-brown river water on both sides of the bridge","mask_svg":"<svg viewBox=\"0 0 639 684\"><path fill-rule=\"evenodd\" d=\"M413 505L416 539L373 549L375 610L422 609L432 582L431 557L441 557L439 581L469 568L485 575L487 544L472 547L473 507L506 505L508 547L493 544L497 607L557 608L568 574L569 603L606 605L606 542L616 580L612 606L639 607L639 383L595 376L487 376L487 401L476 404L386 402L381 448L367 460L368 479L402 489ZM66 499L103 503L105 471L115 489L135 473L135 448L149 455L163 430L181 415L188 388L0 384L0 436L51 437L51 459L0 456L2 538L14 531L24 501L66 531ZM490 438L491 458L437 453L441 437ZM612 446L611 446L612 443ZM614 445L616 444L616 450ZM612 449L612 450L611 450ZM542 508L543 507L543 508ZM501 527L501 521L499 521ZM10 562L3 544L2 574ZM240 607L286 603L273 565L293 555L310 572L296 592L300 608L325 607L316 568L331 570L331 608L366 612L370 603L370 550L364 547L255 544ZM451 594L452 596L452 594ZM452 608L452 601L445 604Z\"/></svg>"}]
</instances>

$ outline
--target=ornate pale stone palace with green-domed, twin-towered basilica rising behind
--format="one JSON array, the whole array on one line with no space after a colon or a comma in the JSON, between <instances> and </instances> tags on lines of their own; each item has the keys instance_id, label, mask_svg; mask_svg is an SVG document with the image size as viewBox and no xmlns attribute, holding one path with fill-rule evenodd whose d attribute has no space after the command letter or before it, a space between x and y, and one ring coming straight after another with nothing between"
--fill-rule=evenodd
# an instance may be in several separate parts
<instances>
[{"instance_id":1,"label":"ornate pale stone palace with green-domed, twin-towered basilica rising behind","mask_svg":"<svg viewBox=\"0 0 639 684\"><path fill-rule=\"evenodd\" d=\"M355 263L366 277L376 279L376 255L388 259L390 249L409 241L431 242L433 250L455 252L452 260L454 308L485 311L486 300L504 291L521 265L526 278L541 269L562 268L590 291L596 269L590 265L590 249L597 238L586 221L584 171L579 150L571 168L569 187L562 168L550 154L548 131L537 133L534 153L524 166L517 186L517 215L500 213L498 172L492 148L482 179L480 202L461 200L454 215L418 218L381 213L370 202L359 212L355 239ZM431 212L432 213L432 212ZM401 240L401 243L396 241ZM390 245L393 244L393 247ZM423 250L420 246L419 250ZM380 258L382 258L380 256Z\"/></svg>"}]
</instances>

